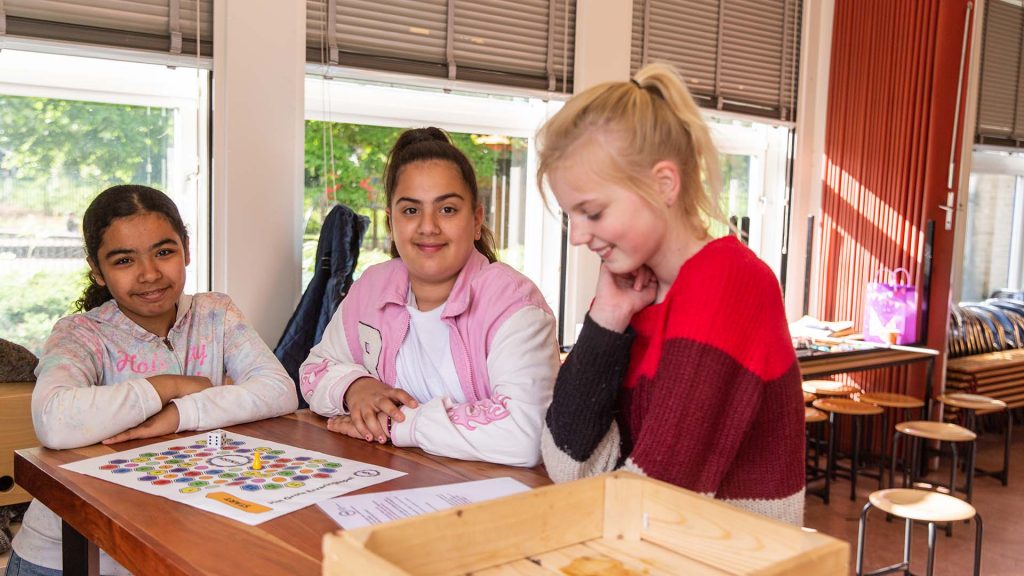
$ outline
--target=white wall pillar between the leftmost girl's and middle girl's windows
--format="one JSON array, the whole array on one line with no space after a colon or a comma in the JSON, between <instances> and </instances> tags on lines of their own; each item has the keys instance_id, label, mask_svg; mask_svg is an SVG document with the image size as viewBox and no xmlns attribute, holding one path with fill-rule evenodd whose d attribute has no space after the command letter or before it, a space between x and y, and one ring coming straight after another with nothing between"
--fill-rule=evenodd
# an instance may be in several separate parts
<instances>
[{"instance_id":1,"label":"white wall pillar between the leftmost girl's and middle girl's windows","mask_svg":"<svg viewBox=\"0 0 1024 576\"><path fill-rule=\"evenodd\" d=\"M270 346L300 291L305 10L214 2L212 286Z\"/></svg>"}]
</instances>

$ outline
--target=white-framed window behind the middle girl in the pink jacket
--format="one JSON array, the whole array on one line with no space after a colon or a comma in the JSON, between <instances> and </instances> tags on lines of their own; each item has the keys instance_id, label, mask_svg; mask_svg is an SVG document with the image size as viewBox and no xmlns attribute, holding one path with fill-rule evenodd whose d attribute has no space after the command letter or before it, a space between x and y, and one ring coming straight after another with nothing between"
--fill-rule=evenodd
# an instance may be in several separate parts
<instances>
[{"instance_id":1,"label":"white-framed window behind the middle girl in the pink jacket","mask_svg":"<svg viewBox=\"0 0 1024 576\"><path fill-rule=\"evenodd\" d=\"M447 130L473 162L501 260L529 277L557 311L561 229L537 192L534 134L558 106L528 95L308 78L303 287L335 202L371 219L356 277L389 258L381 182L387 153L407 127L432 125Z\"/></svg>"}]
</instances>

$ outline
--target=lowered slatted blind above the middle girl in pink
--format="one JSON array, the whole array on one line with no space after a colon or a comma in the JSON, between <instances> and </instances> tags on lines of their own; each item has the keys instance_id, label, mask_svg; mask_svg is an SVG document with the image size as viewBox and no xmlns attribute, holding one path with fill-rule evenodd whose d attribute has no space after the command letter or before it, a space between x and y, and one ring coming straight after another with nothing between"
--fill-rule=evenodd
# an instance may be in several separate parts
<instances>
[{"instance_id":1,"label":"lowered slatted blind above the middle girl in pink","mask_svg":"<svg viewBox=\"0 0 1024 576\"><path fill-rule=\"evenodd\" d=\"M306 59L570 91L575 0L306 0Z\"/></svg>"}]
</instances>

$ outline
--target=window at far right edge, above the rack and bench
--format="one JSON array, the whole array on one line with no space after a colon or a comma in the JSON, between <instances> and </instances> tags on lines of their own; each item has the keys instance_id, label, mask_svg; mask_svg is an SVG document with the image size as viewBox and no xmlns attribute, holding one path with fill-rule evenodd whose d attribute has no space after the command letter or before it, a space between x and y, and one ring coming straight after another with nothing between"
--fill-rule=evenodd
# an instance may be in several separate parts
<instances>
[{"instance_id":1,"label":"window at far right edge, above the rack and bench","mask_svg":"<svg viewBox=\"0 0 1024 576\"><path fill-rule=\"evenodd\" d=\"M975 150L968 190L962 301L1022 289L1024 154Z\"/></svg>"}]
</instances>

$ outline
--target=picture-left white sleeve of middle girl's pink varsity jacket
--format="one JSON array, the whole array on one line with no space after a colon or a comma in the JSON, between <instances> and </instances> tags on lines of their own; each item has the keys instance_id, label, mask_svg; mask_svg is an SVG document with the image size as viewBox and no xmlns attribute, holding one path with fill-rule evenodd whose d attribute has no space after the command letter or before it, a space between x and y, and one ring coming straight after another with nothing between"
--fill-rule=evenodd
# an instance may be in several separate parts
<instances>
[{"instance_id":1,"label":"picture-left white sleeve of middle girl's pink varsity jacket","mask_svg":"<svg viewBox=\"0 0 1024 576\"><path fill-rule=\"evenodd\" d=\"M302 397L309 409L321 416L347 414L344 399L348 386L365 376L377 377L354 360L348 349L342 318L344 310L344 303L338 306L324 330L324 337L309 351L309 357L299 368Z\"/></svg>"}]
</instances>

